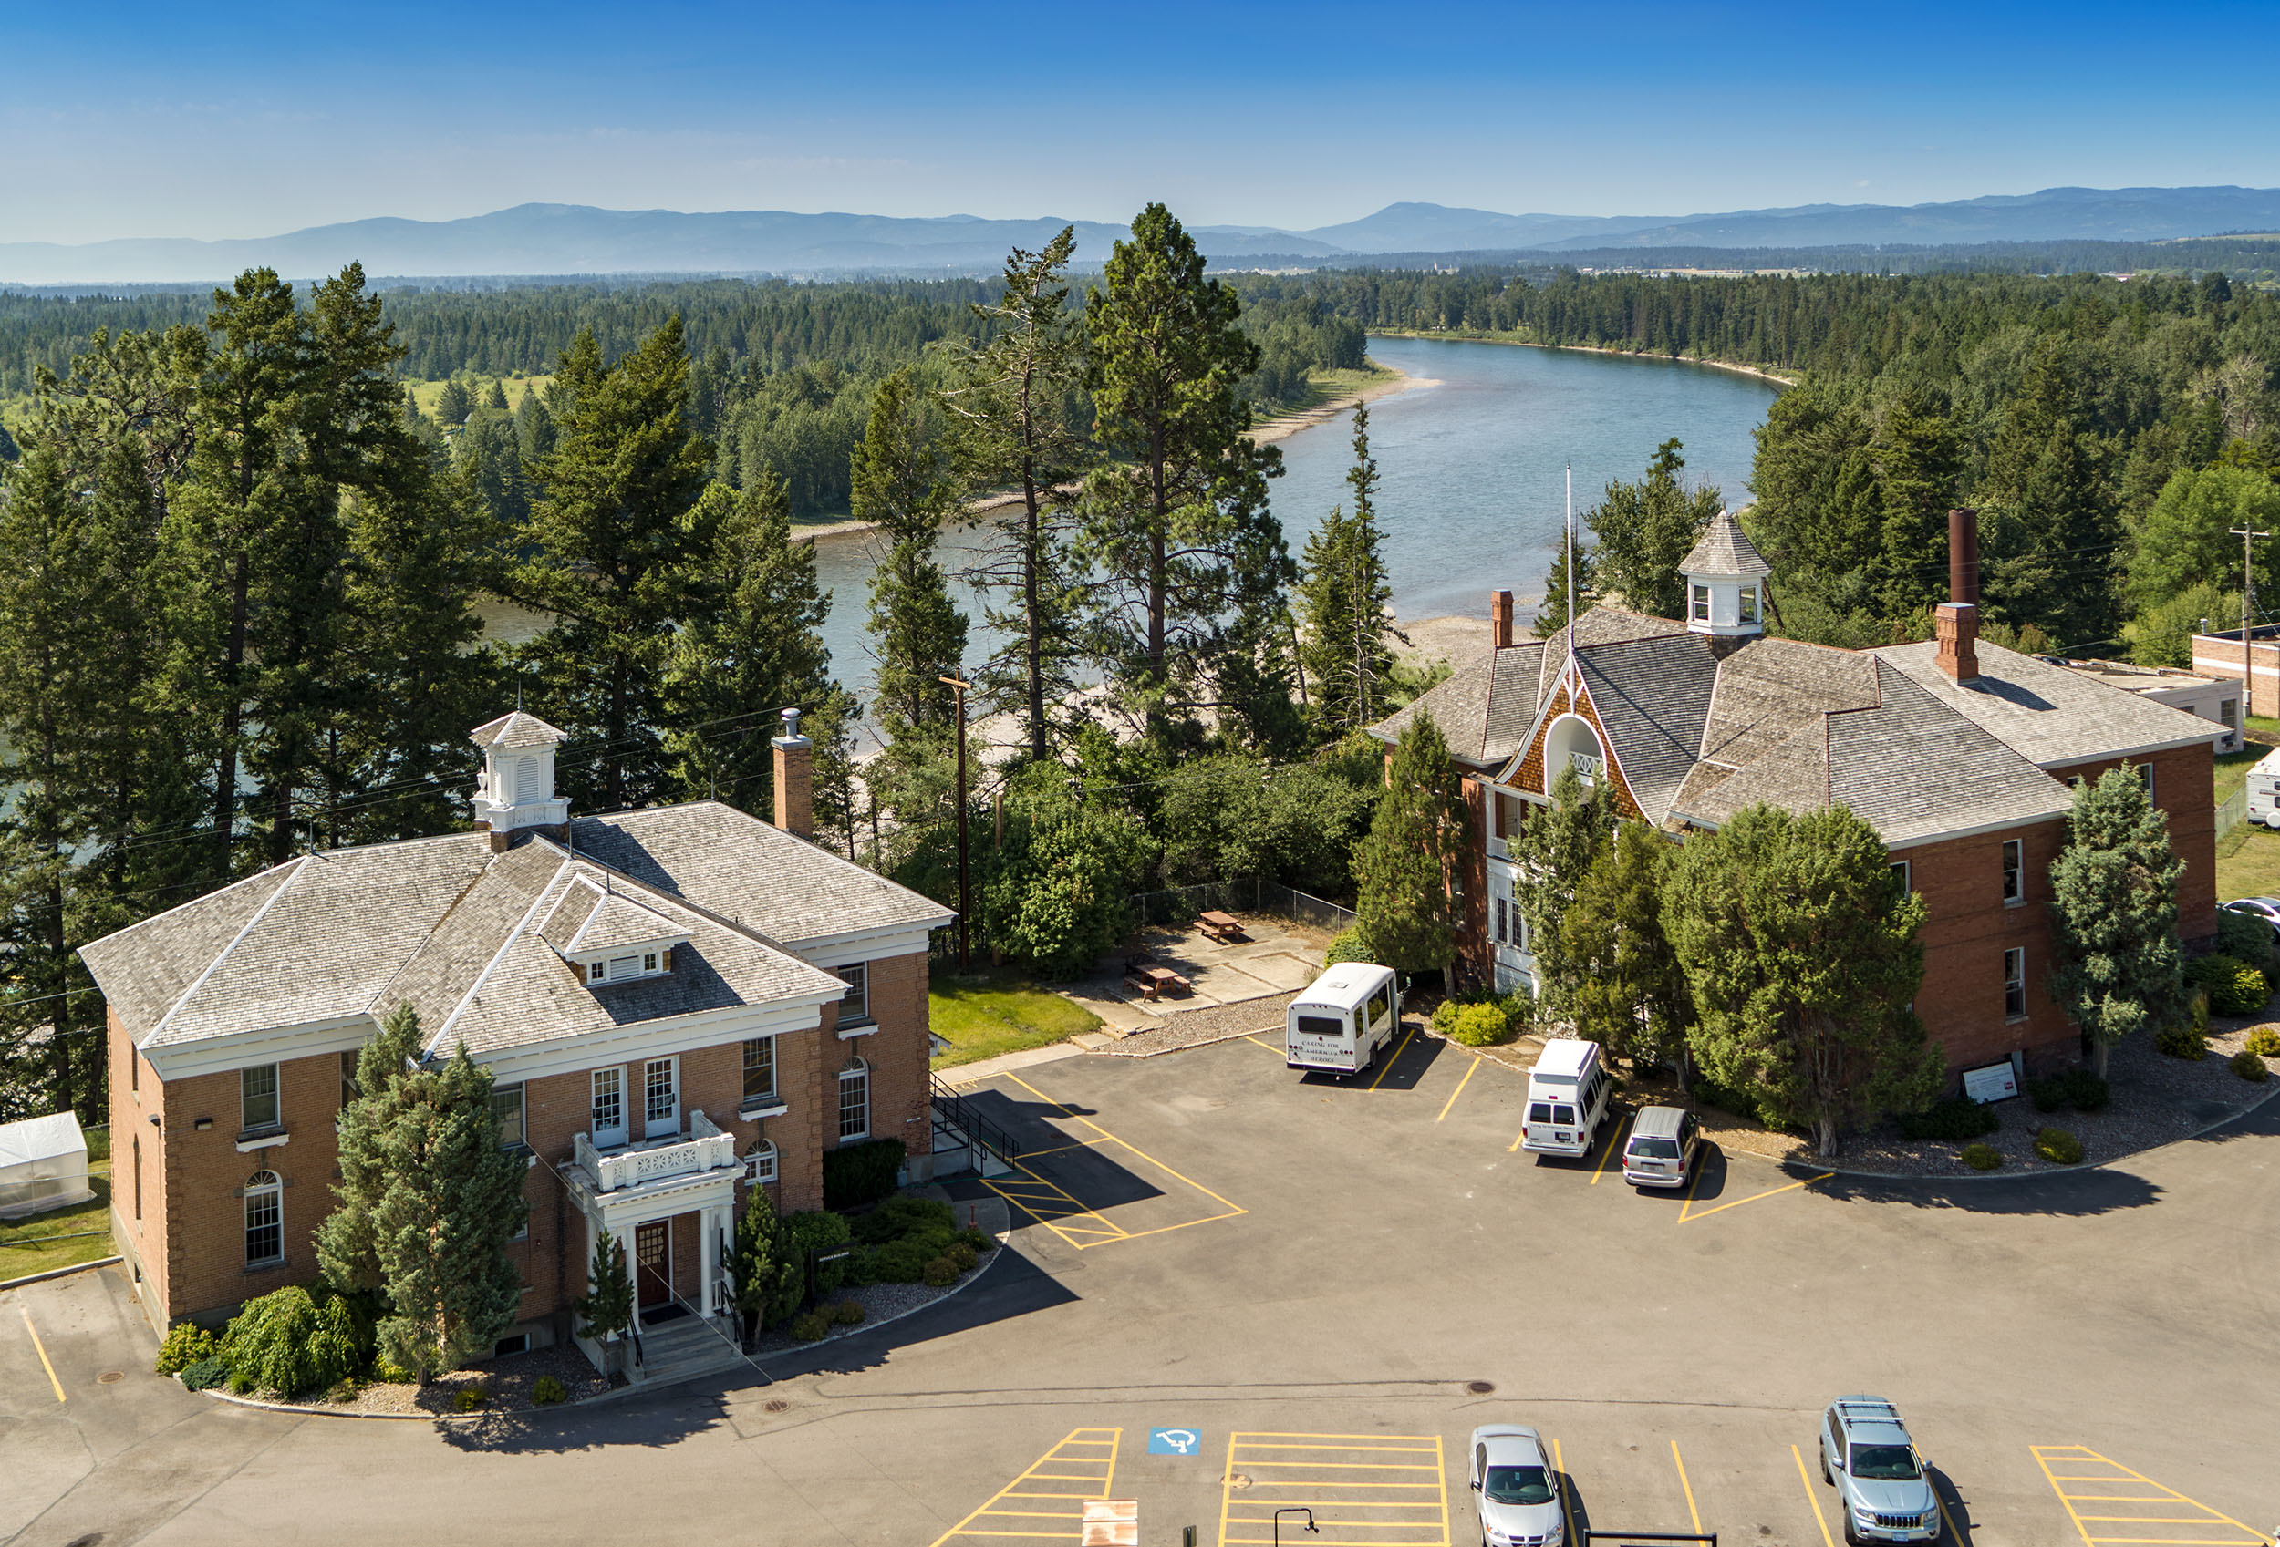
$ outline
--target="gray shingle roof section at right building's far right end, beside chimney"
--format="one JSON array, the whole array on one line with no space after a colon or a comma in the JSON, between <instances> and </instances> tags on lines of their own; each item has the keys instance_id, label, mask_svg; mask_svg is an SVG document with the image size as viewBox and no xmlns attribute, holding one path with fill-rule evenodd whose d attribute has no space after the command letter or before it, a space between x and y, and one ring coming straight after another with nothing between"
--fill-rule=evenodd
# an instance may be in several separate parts
<instances>
[{"instance_id":1,"label":"gray shingle roof section at right building's far right end, beside chimney","mask_svg":"<svg viewBox=\"0 0 2280 1547\"><path fill-rule=\"evenodd\" d=\"M1899 668L1931 697L2043 768L2184 747L2225 734L2214 720L2155 704L2086 672L2070 672L1986 640L1979 640L1979 677L1959 684L1938 668L1938 649L1924 640L1886 645L1867 654Z\"/></svg>"}]
</instances>

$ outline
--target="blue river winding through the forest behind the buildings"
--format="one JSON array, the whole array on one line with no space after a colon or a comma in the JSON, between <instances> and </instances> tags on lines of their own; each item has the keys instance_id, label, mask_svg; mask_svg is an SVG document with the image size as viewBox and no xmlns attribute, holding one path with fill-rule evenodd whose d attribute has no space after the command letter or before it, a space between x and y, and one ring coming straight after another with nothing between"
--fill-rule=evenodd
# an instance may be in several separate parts
<instances>
[{"instance_id":1,"label":"blue river winding through the forest behind the buildings","mask_svg":"<svg viewBox=\"0 0 2280 1547\"><path fill-rule=\"evenodd\" d=\"M1639 478L1671 435L1685 442L1689 481L1746 504L1751 431L1776 392L1740 371L1569 349L1373 337L1370 358L1420 383L1370 403L1377 513L1402 622L1487 617L1491 588L1534 601L1560 545L1566 465L1575 467L1578 522L1607 481ZM1281 453L1284 476L1270 490L1295 558L1322 515L1350 501L1352 415L1284 440ZM974 526L946 526L944 567L955 574L978 545ZM832 595L823 624L832 672L864 695L873 549L866 533L816 538L816 574ZM964 583L953 583L953 595L974 617L967 658L978 661L994 636L976 595ZM488 617L502 640L529 638L536 627L504 606Z\"/></svg>"}]
</instances>

